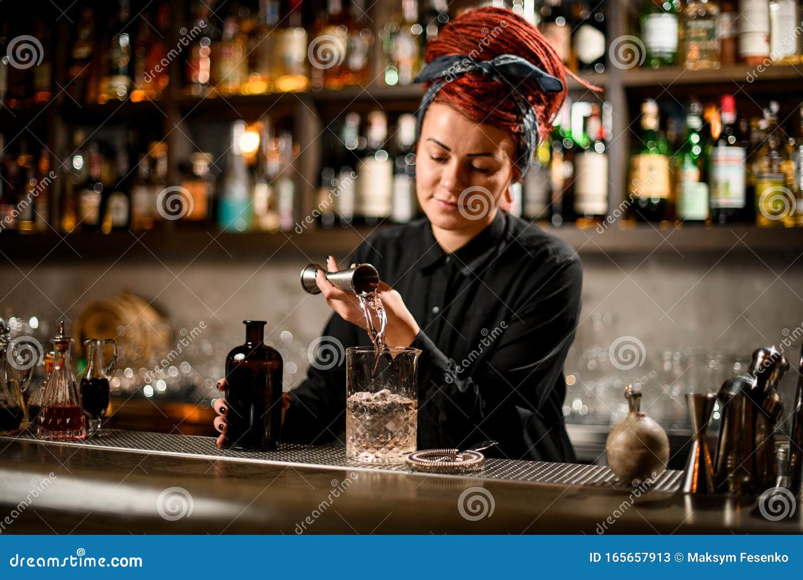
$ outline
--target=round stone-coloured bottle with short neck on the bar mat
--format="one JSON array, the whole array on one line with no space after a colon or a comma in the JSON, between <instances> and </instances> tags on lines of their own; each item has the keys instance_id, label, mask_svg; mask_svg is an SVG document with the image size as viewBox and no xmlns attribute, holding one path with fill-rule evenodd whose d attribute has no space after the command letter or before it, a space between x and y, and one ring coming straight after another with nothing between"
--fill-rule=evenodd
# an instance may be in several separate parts
<instances>
[{"instance_id":1,"label":"round stone-coloured bottle with short neck on the bar mat","mask_svg":"<svg viewBox=\"0 0 803 580\"><path fill-rule=\"evenodd\" d=\"M624 485L654 481L669 460L669 438L646 413L641 412L642 394L633 385L625 387L630 412L613 426L605 442L608 465Z\"/></svg>"}]
</instances>

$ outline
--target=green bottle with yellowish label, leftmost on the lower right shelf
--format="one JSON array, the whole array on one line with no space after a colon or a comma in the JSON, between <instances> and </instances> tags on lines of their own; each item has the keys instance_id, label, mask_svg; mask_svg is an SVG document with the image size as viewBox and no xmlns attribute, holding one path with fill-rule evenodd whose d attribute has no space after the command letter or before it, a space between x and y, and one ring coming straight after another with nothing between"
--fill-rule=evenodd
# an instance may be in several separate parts
<instances>
[{"instance_id":1,"label":"green bottle with yellowish label, leftmost on the lower right shelf","mask_svg":"<svg viewBox=\"0 0 803 580\"><path fill-rule=\"evenodd\" d=\"M665 221L669 213L671 181L666 139L659 130L658 103L642 103L640 150L630 160L632 215L637 221Z\"/></svg>"}]
</instances>

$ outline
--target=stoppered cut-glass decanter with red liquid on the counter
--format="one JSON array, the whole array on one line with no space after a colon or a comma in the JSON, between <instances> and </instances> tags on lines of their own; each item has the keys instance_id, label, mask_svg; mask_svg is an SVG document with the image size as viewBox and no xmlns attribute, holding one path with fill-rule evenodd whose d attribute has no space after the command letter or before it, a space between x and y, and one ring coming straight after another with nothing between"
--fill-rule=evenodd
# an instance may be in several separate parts
<instances>
[{"instance_id":1,"label":"stoppered cut-glass decanter with red liquid on the counter","mask_svg":"<svg viewBox=\"0 0 803 580\"><path fill-rule=\"evenodd\" d=\"M36 436L49 440L86 439L87 427L78 382L72 371L72 339L64 335L64 322L59 322L59 334L53 337L55 362L39 412Z\"/></svg>"}]
</instances>

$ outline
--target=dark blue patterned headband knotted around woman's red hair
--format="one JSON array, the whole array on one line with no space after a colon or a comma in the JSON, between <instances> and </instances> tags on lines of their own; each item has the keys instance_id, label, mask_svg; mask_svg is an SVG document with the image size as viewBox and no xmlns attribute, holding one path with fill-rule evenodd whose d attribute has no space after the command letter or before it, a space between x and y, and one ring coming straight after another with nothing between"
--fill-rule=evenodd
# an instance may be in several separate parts
<instances>
[{"instance_id":1,"label":"dark blue patterned headband knotted around woman's red hair","mask_svg":"<svg viewBox=\"0 0 803 580\"><path fill-rule=\"evenodd\" d=\"M418 106L417 135L421 135L421 125L427 107L438 91L446 83L450 83L459 75L467 72L480 72L503 83L519 107L521 135L519 140L519 160L526 163L521 166L521 177L527 174L530 164L538 148L538 119L536 110L522 95L518 87L524 80L534 80L544 92L561 92L563 83L552 75L548 75L536 65L516 55L499 55L491 60L475 60L467 55L448 55L434 59L413 79L414 83L434 81L424 93Z\"/></svg>"}]
</instances>

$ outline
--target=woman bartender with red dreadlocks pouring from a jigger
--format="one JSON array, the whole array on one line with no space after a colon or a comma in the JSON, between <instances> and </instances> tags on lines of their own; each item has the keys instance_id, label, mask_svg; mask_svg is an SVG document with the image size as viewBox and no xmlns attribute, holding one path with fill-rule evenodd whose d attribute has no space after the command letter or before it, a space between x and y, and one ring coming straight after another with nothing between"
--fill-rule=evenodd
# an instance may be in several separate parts
<instances>
[{"instance_id":1,"label":"woman bartender with red dreadlocks pouring from a jigger","mask_svg":"<svg viewBox=\"0 0 803 580\"><path fill-rule=\"evenodd\" d=\"M577 326L582 271L564 241L499 205L521 180L566 96L565 67L509 10L470 10L426 47L416 79L416 187L426 218L380 229L350 262L376 266L389 346L422 350L418 448L499 441L492 455L573 461L563 364ZM336 270L328 257L328 269ZM324 337L369 346L356 299L318 275L334 310ZM341 357L344 359L344 357ZM286 399L282 440L343 441L344 362L314 364ZM222 390L225 381L218 382ZM215 427L226 441L226 401Z\"/></svg>"}]
</instances>

